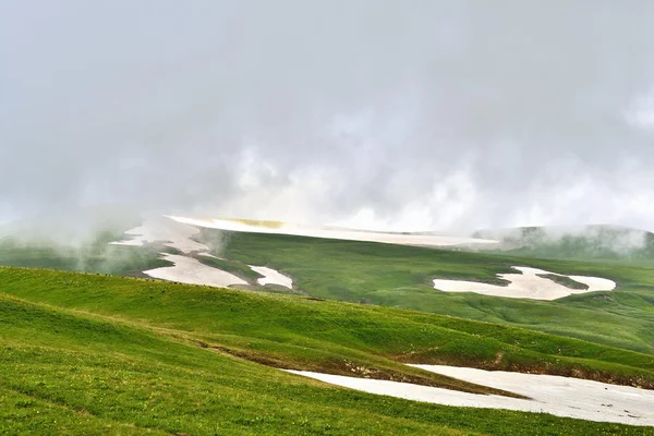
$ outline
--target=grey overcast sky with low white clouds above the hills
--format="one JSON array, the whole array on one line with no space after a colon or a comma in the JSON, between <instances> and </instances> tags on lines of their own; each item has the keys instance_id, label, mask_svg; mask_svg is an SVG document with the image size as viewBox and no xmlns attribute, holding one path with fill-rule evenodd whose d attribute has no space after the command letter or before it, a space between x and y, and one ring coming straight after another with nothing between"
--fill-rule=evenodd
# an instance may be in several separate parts
<instances>
[{"instance_id":1,"label":"grey overcast sky with low white clouds above the hills","mask_svg":"<svg viewBox=\"0 0 654 436\"><path fill-rule=\"evenodd\" d=\"M0 222L654 230L654 2L0 2Z\"/></svg>"}]
</instances>

